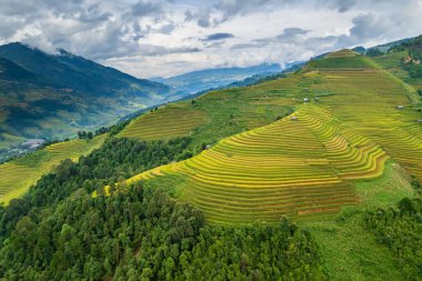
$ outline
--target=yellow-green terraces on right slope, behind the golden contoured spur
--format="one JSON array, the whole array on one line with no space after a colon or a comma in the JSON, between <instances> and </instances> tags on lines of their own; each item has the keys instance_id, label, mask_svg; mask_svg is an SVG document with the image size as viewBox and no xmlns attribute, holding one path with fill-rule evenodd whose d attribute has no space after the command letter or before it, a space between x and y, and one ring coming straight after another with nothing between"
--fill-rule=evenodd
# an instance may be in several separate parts
<instances>
[{"instance_id":1,"label":"yellow-green terraces on right slope, behind the golden contoured spur","mask_svg":"<svg viewBox=\"0 0 422 281\"><path fill-rule=\"evenodd\" d=\"M331 71L321 89L335 91L323 107L378 143L388 154L422 181L421 113L412 108L412 92L384 71ZM334 76L333 76L334 74ZM341 78L340 78L341 77ZM398 110L403 106L403 110Z\"/></svg>"}]
</instances>

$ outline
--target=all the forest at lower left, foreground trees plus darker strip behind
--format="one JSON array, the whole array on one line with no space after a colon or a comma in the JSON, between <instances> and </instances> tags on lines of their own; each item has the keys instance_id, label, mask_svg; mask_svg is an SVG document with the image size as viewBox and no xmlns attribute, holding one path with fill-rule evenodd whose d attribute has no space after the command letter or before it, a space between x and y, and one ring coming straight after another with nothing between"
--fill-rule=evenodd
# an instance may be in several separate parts
<instances>
[{"instance_id":1,"label":"all the forest at lower left, foreground trees plus darker strip behind","mask_svg":"<svg viewBox=\"0 0 422 281\"><path fill-rule=\"evenodd\" d=\"M323 278L309 232L278 224L205 224L163 191L99 187L191 157L190 138L111 138L78 163L63 161L22 199L0 208L6 280L301 280ZM201 149L201 148L199 148Z\"/></svg>"}]
</instances>

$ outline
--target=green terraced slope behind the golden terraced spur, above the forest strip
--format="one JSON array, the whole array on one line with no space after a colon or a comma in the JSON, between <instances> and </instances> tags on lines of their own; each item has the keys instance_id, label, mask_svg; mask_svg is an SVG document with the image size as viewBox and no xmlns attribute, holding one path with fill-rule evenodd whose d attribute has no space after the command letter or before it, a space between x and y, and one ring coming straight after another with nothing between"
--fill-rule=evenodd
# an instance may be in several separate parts
<instances>
[{"instance_id":1,"label":"green terraced slope behind the golden terraced spur, above the forest strip","mask_svg":"<svg viewBox=\"0 0 422 281\"><path fill-rule=\"evenodd\" d=\"M163 106L155 112L132 120L119 136L152 140L189 134L194 139L192 148L214 143L221 138L269 124L277 117L291 112L291 107L300 104L300 97L303 96L294 87L300 80L294 77L211 92L195 99L194 104L183 101ZM171 112L177 110L182 112Z\"/></svg>"}]
</instances>

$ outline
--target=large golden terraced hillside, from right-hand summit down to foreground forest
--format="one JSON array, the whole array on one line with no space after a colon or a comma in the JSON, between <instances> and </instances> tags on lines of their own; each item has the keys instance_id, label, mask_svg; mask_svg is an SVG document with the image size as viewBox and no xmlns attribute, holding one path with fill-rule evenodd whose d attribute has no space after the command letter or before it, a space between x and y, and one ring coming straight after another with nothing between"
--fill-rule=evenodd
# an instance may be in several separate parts
<instances>
[{"instance_id":1,"label":"large golden terraced hillside, from right-hand summit down to foreground forest","mask_svg":"<svg viewBox=\"0 0 422 281\"><path fill-rule=\"evenodd\" d=\"M294 98L287 89L294 89ZM422 180L422 127L415 122L422 118L413 108L413 89L370 59L343 50L251 92L247 88L241 96L249 104L291 101L297 111L128 183L179 177L181 199L210 221L230 223L277 221L282 214L294 220L330 217L342 205L359 203L354 182L381 175L390 158ZM219 94L205 97L217 101ZM230 92L222 94L230 100ZM303 97L311 102L302 104ZM251 112L243 117L248 114L253 119Z\"/></svg>"}]
</instances>

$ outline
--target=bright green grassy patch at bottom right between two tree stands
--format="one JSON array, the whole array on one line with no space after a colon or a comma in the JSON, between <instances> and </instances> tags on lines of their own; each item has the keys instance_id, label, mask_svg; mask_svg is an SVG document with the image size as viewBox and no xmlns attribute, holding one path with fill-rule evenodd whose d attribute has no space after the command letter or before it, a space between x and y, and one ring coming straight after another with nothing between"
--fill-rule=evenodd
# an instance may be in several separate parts
<instances>
[{"instance_id":1,"label":"bright green grassy patch at bottom right between two tree stands","mask_svg":"<svg viewBox=\"0 0 422 281\"><path fill-rule=\"evenodd\" d=\"M393 257L363 229L360 214L345 222L323 220L300 225L316 240L330 280L402 280Z\"/></svg>"}]
</instances>

